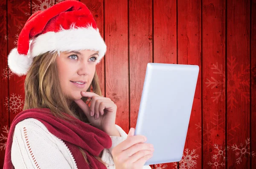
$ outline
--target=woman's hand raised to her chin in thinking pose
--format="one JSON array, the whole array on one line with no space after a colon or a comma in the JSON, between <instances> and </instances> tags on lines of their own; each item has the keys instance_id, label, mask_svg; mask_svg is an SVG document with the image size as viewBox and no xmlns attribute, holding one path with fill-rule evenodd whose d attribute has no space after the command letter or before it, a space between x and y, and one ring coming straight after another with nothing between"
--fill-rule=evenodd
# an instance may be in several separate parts
<instances>
[{"instance_id":1,"label":"woman's hand raised to her chin in thinking pose","mask_svg":"<svg viewBox=\"0 0 256 169\"><path fill-rule=\"evenodd\" d=\"M93 92L81 92L84 97L90 97L90 107L83 100L74 100L83 110L92 126L106 133L116 130L116 104L107 97L99 96Z\"/></svg>"}]
</instances>

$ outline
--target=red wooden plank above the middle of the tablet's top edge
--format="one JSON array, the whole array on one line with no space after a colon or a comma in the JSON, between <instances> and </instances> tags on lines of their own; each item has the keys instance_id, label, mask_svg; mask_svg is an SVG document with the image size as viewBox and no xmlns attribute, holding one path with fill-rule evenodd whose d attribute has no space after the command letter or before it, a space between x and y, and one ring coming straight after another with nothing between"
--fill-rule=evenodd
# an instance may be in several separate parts
<instances>
[{"instance_id":1,"label":"red wooden plank above the middle of the tablet's top edge","mask_svg":"<svg viewBox=\"0 0 256 169\"><path fill-rule=\"evenodd\" d=\"M176 0L154 0L154 63L177 63ZM156 164L154 168L174 169L176 163Z\"/></svg>"}]
</instances>

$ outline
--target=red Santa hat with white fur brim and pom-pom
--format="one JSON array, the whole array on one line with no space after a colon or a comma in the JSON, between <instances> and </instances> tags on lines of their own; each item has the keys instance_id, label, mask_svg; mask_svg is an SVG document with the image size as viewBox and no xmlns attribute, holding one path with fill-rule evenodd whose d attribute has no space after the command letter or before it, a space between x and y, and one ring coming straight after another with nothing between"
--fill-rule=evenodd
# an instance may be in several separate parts
<instances>
[{"instance_id":1,"label":"red Santa hat with white fur brim and pom-pom","mask_svg":"<svg viewBox=\"0 0 256 169\"><path fill-rule=\"evenodd\" d=\"M85 49L99 52L97 64L107 47L89 9L77 0L66 0L29 17L17 48L9 53L8 65L15 74L24 75L39 54Z\"/></svg>"}]
</instances>

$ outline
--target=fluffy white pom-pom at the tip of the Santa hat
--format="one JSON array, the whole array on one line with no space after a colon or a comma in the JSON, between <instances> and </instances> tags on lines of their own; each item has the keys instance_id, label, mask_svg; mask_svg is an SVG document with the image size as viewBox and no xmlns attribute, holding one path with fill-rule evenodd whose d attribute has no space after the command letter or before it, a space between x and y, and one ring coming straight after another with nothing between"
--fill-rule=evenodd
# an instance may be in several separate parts
<instances>
[{"instance_id":1,"label":"fluffy white pom-pom at the tip of the Santa hat","mask_svg":"<svg viewBox=\"0 0 256 169\"><path fill-rule=\"evenodd\" d=\"M11 71L19 76L25 75L31 66L33 57L19 54L17 48L11 50L8 55L8 66Z\"/></svg>"}]
</instances>

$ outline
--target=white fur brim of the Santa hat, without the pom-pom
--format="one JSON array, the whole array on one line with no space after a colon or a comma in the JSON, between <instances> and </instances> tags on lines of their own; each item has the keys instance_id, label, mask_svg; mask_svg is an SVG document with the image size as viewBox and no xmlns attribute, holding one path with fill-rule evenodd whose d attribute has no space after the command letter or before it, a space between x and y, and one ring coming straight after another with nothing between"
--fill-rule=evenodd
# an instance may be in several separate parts
<instances>
[{"instance_id":1,"label":"white fur brim of the Santa hat, without the pom-pom","mask_svg":"<svg viewBox=\"0 0 256 169\"><path fill-rule=\"evenodd\" d=\"M96 63L102 59L107 50L107 46L102 39L99 29L93 27L63 29L59 32L47 32L35 37L29 47L31 57L36 57L45 52L64 52L93 50L99 52Z\"/></svg>"}]
</instances>

